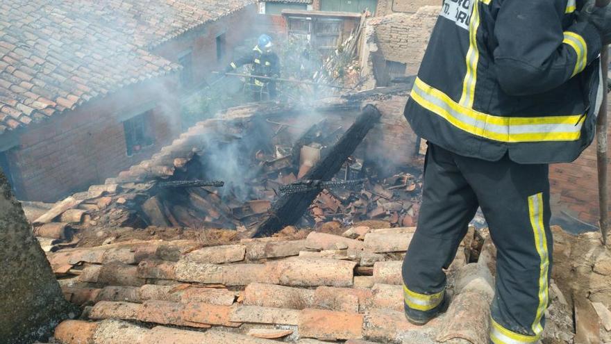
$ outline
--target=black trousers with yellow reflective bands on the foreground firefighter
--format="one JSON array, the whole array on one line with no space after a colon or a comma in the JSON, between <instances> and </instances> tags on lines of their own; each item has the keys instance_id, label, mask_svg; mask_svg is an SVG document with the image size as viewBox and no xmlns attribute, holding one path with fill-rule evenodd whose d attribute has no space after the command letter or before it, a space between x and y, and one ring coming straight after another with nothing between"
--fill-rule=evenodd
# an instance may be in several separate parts
<instances>
[{"instance_id":1,"label":"black trousers with yellow reflective bands on the foreground firefighter","mask_svg":"<svg viewBox=\"0 0 611 344\"><path fill-rule=\"evenodd\" d=\"M406 311L440 308L442 269L453 261L480 206L498 249L490 341L535 343L549 303L553 252L548 170L507 155L484 161L429 144L418 226L403 261Z\"/></svg>"}]
</instances>

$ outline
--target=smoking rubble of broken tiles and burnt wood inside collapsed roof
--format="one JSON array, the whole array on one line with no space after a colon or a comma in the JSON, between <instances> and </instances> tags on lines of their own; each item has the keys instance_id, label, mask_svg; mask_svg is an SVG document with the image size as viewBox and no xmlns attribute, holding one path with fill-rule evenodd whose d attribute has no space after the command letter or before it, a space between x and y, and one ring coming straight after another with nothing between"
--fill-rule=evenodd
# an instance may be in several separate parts
<instances>
[{"instance_id":1,"label":"smoking rubble of broken tiles and burnt wood inside collapsed roof","mask_svg":"<svg viewBox=\"0 0 611 344\"><path fill-rule=\"evenodd\" d=\"M43 240L44 247L58 249L58 241L73 245L72 232L89 229L250 231L269 217L271 205L287 192L283 188L292 188L326 156L354 120L359 104L340 99L314 109L344 110L325 120L276 104L233 108L221 118L196 124L151 159L103 185L72 195L42 215L32 211L39 215L31 219L35 232L49 239ZM421 167L403 166L397 173L383 170L367 156L368 145L362 142L332 179L349 185L320 188L297 225L335 222L345 227L369 219L391 227L415 225ZM224 186L212 185L215 180L224 181Z\"/></svg>"}]
</instances>

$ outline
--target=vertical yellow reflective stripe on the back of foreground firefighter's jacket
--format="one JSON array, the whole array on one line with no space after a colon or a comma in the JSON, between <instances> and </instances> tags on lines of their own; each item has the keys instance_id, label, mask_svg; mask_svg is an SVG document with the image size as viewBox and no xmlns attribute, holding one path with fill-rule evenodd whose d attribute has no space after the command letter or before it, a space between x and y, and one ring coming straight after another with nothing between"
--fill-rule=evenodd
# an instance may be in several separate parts
<instances>
[{"instance_id":1,"label":"vertical yellow reflective stripe on the back of foreground firefighter's jacket","mask_svg":"<svg viewBox=\"0 0 611 344\"><path fill-rule=\"evenodd\" d=\"M467 108L473 107L475 99L475 85L477 83L477 65L480 58L480 52L477 46L477 31L480 26L480 10L479 1L473 4L471 11L471 20L469 22L469 51L467 51L467 74L464 76L462 83L462 96L458 103Z\"/></svg>"}]
</instances>

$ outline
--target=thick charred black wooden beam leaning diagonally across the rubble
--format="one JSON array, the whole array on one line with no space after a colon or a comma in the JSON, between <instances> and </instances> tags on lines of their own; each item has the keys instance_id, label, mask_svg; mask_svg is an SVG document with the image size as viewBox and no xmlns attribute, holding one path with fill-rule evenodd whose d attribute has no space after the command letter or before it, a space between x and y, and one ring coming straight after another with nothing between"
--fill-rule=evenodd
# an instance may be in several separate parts
<instances>
[{"instance_id":1,"label":"thick charred black wooden beam leaning diagonally across the rubble","mask_svg":"<svg viewBox=\"0 0 611 344\"><path fill-rule=\"evenodd\" d=\"M373 105L365 106L354 124L344 133L337 144L329 149L326 157L312 167L303 176L303 179L330 180L340 171L344 161L353 154L356 147L367 136L369 130L374 127L380 117L381 113L378 108ZM254 236L270 236L283 229L283 227L297 222L319 192L320 190L312 190L306 193L280 197L271 207L268 218L259 225Z\"/></svg>"}]
</instances>

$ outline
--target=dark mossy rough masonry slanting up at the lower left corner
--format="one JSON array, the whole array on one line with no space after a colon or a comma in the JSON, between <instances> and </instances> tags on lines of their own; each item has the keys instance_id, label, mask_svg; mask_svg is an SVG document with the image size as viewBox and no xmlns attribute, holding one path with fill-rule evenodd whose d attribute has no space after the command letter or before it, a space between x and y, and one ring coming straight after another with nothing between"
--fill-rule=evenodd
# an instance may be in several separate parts
<instances>
[{"instance_id":1,"label":"dark mossy rough masonry slanting up at the lower left corner","mask_svg":"<svg viewBox=\"0 0 611 344\"><path fill-rule=\"evenodd\" d=\"M21 205L0 172L0 338L33 343L74 318Z\"/></svg>"}]
</instances>

